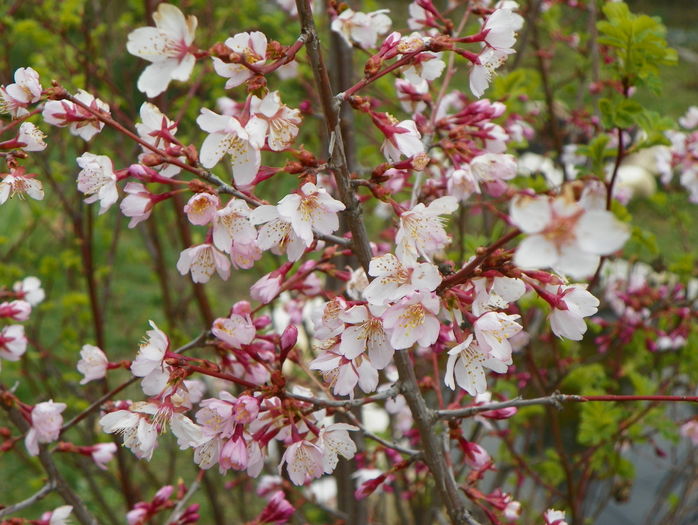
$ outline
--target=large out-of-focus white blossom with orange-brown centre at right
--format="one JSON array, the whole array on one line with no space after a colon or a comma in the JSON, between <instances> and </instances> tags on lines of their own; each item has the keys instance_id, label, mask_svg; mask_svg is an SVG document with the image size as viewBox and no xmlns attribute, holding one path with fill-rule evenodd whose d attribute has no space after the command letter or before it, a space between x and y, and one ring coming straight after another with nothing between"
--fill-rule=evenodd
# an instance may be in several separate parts
<instances>
[{"instance_id":1,"label":"large out-of-focus white blossom with orange-brown centre at right","mask_svg":"<svg viewBox=\"0 0 698 525\"><path fill-rule=\"evenodd\" d=\"M511 220L528 234L516 249L517 266L552 267L577 279L593 274L599 256L618 250L630 236L611 212L585 209L565 195L518 196L511 204Z\"/></svg>"}]
</instances>

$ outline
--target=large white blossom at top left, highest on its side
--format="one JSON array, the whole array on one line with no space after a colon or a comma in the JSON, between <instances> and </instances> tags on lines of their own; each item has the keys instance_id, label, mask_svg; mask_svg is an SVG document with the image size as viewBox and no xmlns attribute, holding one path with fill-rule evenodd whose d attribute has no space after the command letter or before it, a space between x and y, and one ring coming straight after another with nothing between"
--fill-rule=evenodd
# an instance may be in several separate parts
<instances>
[{"instance_id":1,"label":"large white blossom at top left, highest on its side","mask_svg":"<svg viewBox=\"0 0 698 525\"><path fill-rule=\"evenodd\" d=\"M188 80L196 62L191 47L195 16L185 18L177 7L162 3L153 13L153 21L155 27L131 31L126 43L129 53L152 62L138 77L138 90L149 98L165 91L171 80Z\"/></svg>"}]
</instances>

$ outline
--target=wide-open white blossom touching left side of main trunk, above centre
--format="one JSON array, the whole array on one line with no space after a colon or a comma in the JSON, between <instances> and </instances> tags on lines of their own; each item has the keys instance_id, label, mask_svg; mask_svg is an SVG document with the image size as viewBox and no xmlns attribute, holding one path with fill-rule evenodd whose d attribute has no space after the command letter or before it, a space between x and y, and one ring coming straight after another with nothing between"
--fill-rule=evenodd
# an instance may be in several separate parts
<instances>
[{"instance_id":1,"label":"wide-open white blossom touching left side of main trunk, above centre","mask_svg":"<svg viewBox=\"0 0 698 525\"><path fill-rule=\"evenodd\" d=\"M279 216L291 224L306 246L313 243L313 230L330 234L339 228L337 212L344 204L333 199L324 188L306 182L298 193L286 195L276 207Z\"/></svg>"}]
</instances>

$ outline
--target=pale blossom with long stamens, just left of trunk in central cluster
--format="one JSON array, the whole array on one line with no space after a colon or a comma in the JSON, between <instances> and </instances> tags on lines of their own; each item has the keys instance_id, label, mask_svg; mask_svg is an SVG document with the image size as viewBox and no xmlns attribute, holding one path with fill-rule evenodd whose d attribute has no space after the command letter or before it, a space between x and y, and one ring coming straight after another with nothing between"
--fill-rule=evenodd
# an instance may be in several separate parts
<instances>
[{"instance_id":1,"label":"pale blossom with long stamens, just left of trunk in central cluster","mask_svg":"<svg viewBox=\"0 0 698 525\"><path fill-rule=\"evenodd\" d=\"M339 318L350 324L341 333L339 352L347 359L355 359L364 352L374 368L385 368L393 357L393 348L383 330L379 315L384 308L363 305L353 306L342 312Z\"/></svg>"}]
</instances>

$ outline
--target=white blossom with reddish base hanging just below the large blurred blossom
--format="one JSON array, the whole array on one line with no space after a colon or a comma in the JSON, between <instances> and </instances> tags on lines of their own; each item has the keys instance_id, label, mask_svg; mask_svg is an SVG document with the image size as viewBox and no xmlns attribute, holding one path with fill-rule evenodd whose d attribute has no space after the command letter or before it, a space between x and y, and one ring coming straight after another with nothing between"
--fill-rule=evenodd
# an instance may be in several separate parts
<instances>
[{"instance_id":1,"label":"white blossom with reddish base hanging just below the large blurred blossom","mask_svg":"<svg viewBox=\"0 0 698 525\"><path fill-rule=\"evenodd\" d=\"M598 311L599 300L582 285L552 288L556 303L550 313L553 333L558 337L581 341L582 335L587 331L584 318Z\"/></svg>"}]
</instances>

